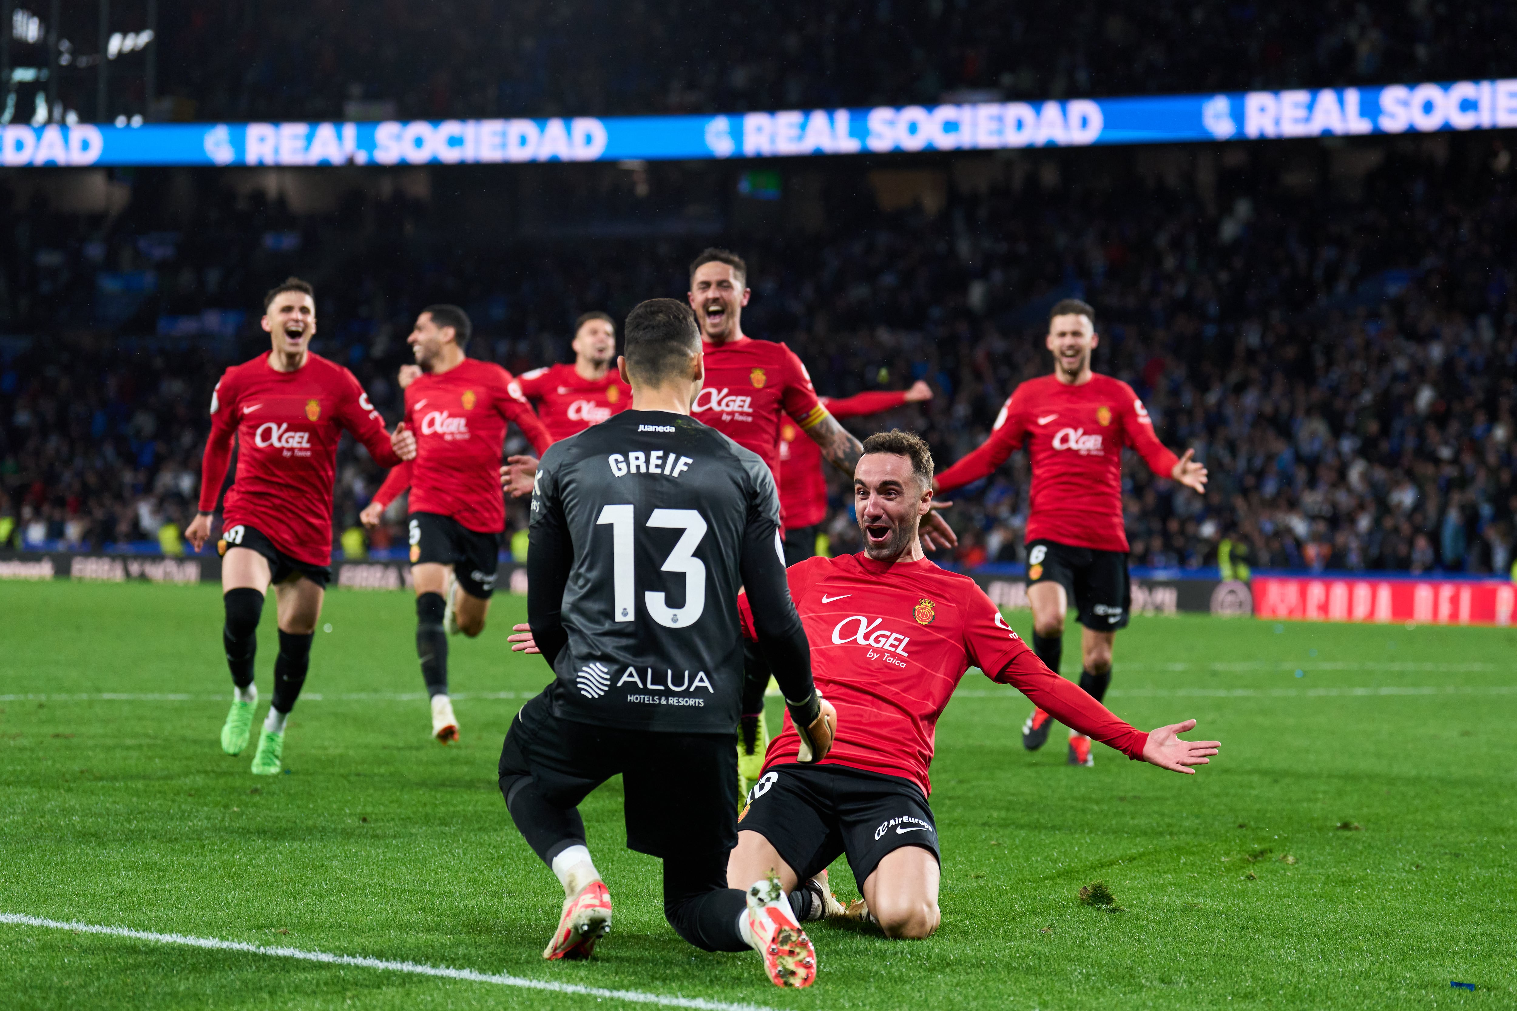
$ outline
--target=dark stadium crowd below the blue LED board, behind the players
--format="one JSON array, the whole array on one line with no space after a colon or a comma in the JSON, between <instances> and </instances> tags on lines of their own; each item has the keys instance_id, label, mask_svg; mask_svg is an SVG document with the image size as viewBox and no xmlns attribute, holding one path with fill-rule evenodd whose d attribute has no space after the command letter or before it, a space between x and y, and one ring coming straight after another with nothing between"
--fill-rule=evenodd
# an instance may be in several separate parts
<instances>
[{"instance_id":1,"label":"dark stadium crowd below the blue LED board, behind the players","mask_svg":"<svg viewBox=\"0 0 1517 1011\"><path fill-rule=\"evenodd\" d=\"M1224 562L1255 567L1506 571L1517 509L1509 158L1488 139L1346 150L1368 171L1332 182L1229 155L1206 174L1197 158L1215 156L1185 152L1153 171L1141 158L1051 153L945 164L936 202L722 241L752 267L745 330L790 343L821 393L933 385L930 403L851 427L916 429L941 465L985 438L1018 380L1048 371L1048 305L1095 305L1095 368L1130 382L1161 438L1195 447L1212 476L1201 499L1133 461L1135 564L1214 565L1227 541ZM1321 176L1340 162L1311 164ZM400 191L300 217L208 188L177 230L147 206L108 227L36 206L0 252L0 333L26 335L0 340L0 541L177 550L211 387L229 361L267 347L258 296L288 273L317 285L316 350L353 367L393 423L417 308L464 305L478 332L470 353L520 373L564 359L584 309L619 315L680 296L684 265L707 244L455 249L435 206ZM382 474L352 449L338 473L341 532ZM856 537L845 491L833 482L836 550ZM1021 453L956 499L960 564L1021 561ZM382 529L373 546L396 534Z\"/></svg>"}]
</instances>

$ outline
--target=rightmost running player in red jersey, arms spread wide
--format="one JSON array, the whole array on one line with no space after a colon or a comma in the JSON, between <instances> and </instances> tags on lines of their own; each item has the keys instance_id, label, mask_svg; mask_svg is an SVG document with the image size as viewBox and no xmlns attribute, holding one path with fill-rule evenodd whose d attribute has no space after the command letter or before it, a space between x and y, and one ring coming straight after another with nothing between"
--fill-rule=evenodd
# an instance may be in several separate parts
<instances>
[{"instance_id":1,"label":"rightmost running player in red jersey, arms spread wide","mask_svg":"<svg viewBox=\"0 0 1517 1011\"><path fill-rule=\"evenodd\" d=\"M1053 374L1012 391L991 438L948 470L933 488L950 491L995 471L1012 450L1029 446L1033 485L1027 511L1027 599L1033 606L1033 652L1059 670L1063 615L1074 600L1082 631L1080 687L1100 702L1112 684L1112 643L1127 626L1132 587L1123 529L1123 447L1130 446L1159 477L1206 491L1206 467L1194 450L1176 456L1153 434L1133 388L1091 371L1100 344L1095 309L1065 299L1048 314ZM1022 746L1048 740L1050 714L1035 708ZM1094 764L1091 738L1069 734L1071 765Z\"/></svg>"}]
</instances>

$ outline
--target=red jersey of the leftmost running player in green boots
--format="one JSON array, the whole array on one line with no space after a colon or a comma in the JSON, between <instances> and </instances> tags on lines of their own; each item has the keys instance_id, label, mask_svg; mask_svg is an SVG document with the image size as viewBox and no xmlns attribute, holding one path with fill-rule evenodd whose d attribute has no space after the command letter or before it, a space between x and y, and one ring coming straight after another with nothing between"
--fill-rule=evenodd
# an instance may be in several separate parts
<instances>
[{"instance_id":1,"label":"red jersey of the leftmost running player in green boots","mask_svg":"<svg viewBox=\"0 0 1517 1011\"><path fill-rule=\"evenodd\" d=\"M353 373L320 355L276 371L267 355L226 370L211 394L211 437L200 465L200 511L215 508L237 435L237 477L221 526L256 527L285 555L313 565L332 561L332 479L343 429L381 467L400 458L384 418Z\"/></svg>"}]
</instances>

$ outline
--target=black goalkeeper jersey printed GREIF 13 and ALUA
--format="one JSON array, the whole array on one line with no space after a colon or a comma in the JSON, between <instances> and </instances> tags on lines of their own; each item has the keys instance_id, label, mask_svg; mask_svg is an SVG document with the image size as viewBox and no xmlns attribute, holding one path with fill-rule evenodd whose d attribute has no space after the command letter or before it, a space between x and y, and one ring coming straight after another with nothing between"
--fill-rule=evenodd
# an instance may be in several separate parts
<instances>
[{"instance_id":1,"label":"black goalkeeper jersey printed GREIF 13 and ALUA","mask_svg":"<svg viewBox=\"0 0 1517 1011\"><path fill-rule=\"evenodd\" d=\"M781 690L809 697L778 532L763 459L687 415L623 411L554 443L537 467L528 550L528 620L557 675L554 714L731 734L743 587L765 614Z\"/></svg>"}]
</instances>

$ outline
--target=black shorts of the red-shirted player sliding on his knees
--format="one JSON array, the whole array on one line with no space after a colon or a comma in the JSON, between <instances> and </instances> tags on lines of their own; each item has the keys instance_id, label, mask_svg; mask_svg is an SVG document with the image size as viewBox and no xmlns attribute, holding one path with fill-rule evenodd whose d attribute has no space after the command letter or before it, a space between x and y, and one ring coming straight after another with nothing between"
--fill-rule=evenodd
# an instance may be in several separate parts
<instances>
[{"instance_id":1,"label":"black shorts of the red-shirted player sliding on his knees","mask_svg":"<svg viewBox=\"0 0 1517 1011\"><path fill-rule=\"evenodd\" d=\"M846 853L860 890L903 846L921 846L942 861L938 823L916 784L845 765L792 762L765 770L748 791L737 831L769 840L801 881Z\"/></svg>"}]
</instances>

